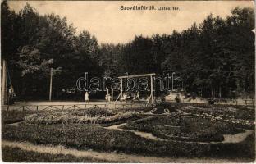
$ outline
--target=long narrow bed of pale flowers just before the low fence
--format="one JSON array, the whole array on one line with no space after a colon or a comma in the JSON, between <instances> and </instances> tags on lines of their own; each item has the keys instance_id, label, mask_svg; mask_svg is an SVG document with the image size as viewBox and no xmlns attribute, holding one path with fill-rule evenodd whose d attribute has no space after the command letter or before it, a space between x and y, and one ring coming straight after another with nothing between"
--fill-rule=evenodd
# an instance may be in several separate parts
<instances>
[{"instance_id":1,"label":"long narrow bed of pale flowers just before the low fence","mask_svg":"<svg viewBox=\"0 0 256 164\"><path fill-rule=\"evenodd\" d=\"M25 116L25 122L30 124L103 124L121 121L135 116L136 112L117 112L103 108L91 108L74 111L47 111Z\"/></svg>"}]
</instances>

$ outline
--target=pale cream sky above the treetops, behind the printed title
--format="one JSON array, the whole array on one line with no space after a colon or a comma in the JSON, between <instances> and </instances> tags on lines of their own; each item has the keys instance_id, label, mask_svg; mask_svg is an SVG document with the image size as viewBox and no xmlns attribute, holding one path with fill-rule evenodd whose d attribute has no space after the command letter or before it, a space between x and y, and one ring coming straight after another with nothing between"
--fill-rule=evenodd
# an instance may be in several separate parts
<instances>
[{"instance_id":1,"label":"pale cream sky above the treetops, behind the printed title","mask_svg":"<svg viewBox=\"0 0 256 164\"><path fill-rule=\"evenodd\" d=\"M89 30L98 43L128 43L135 35L171 34L195 22L197 25L210 13L225 18L235 7L254 7L254 1L8 1L9 7L20 11L26 3L39 14L66 16L77 34ZM121 6L154 6L154 11L123 11ZM159 7L179 10L159 11Z\"/></svg>"}]
</instances>

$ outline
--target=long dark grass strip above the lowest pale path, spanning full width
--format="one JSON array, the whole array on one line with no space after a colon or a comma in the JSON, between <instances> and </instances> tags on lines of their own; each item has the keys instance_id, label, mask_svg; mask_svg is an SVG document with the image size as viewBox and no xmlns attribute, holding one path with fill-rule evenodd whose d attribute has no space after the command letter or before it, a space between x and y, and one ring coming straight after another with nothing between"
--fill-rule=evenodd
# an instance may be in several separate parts
<instances>
[{"instance_id":1,"label":"long dark grass strip above the lowest pale path, spanning full width","mask_svg":"<svg viewBox=\"0 0 256 164\"><path fill-rule=\"evenodd\" d=\"M168 157L249 157L253 158L254 137L241 144L198 144L157 141L141 138L132 132L107 130L100 125L4 125L2 139L33 144L62 145L79 150L135 153ZM251 150L251 151L249 151ZM245 154L246 152L246 154Z\"/></svg>"}]
</instances>

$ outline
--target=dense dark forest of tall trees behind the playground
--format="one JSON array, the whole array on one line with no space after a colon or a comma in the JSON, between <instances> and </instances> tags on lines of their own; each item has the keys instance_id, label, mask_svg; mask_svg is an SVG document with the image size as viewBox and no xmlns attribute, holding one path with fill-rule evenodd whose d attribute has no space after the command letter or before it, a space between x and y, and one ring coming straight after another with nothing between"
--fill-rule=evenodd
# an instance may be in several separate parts
<instances>
[{"instance_id":1,"label":"dense dark forest of tall trees behind the playground","mask_svg":"<svg viewBox=\"0 0 256 164\"><path fill-rule=\"evenodd\" d=\"M203 97L254 94L252 8L235 8L226 18L209 15L181 32L99 45L86 30L75 34L66 17L41 16L29 4L19 13L5 1L1 7L2 57L19 98L47 98L50 67L57 99L65 98L62 89L74 89L86 71L91 77L176 72L187 91ZM75 94L82 98L77 90Z\"/></svg>"}]
</instances>

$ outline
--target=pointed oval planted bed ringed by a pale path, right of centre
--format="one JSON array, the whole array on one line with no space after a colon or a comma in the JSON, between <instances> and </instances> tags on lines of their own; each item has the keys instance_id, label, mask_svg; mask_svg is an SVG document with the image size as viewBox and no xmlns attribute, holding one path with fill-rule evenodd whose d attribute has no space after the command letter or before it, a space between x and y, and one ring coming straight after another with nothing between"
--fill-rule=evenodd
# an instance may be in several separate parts
<instances>
[{"instance_id":1,"label":"pointed oval planted bed ringed by a pale path, right of centre","mask_svg":"<svg viewBox=\"0 0 256 164\"><path fill-rule=\"evenodd\" d=\"M140 121L130 121L122 128L150 132L162 139L199 142L222 141L222 134L244 132L225 122L180 115L153 116Z\"/></svg>"}]
</instances>

